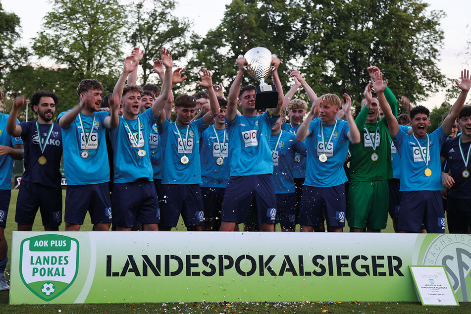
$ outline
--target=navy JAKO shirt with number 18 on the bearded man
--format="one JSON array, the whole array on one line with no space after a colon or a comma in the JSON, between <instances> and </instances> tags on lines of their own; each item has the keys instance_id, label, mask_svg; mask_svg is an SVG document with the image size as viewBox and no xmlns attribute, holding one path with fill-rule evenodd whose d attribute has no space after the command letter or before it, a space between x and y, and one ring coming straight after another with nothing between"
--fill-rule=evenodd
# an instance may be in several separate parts
<instances>
[{"instance_id":1,"label":"navy JAKO shirt with number 18 on the bearded man","mask_svg":"<svg viewBox=\"0 0 471 314\"><path fill-rule=\"evenodd\" d=\"M60 173L60 158L62 157L62 131L58 124L52 123L51 134L48 132L51 124L39 124L40 134L36 121L21 123L21 139L24 143L25 171L21 181L39 183L46 186L60 188L62 174ZM46 142L44 152L41 152L39 141ZM46 157L46 163L40 164L38 159Z\"/></svg>"}]
</instances>

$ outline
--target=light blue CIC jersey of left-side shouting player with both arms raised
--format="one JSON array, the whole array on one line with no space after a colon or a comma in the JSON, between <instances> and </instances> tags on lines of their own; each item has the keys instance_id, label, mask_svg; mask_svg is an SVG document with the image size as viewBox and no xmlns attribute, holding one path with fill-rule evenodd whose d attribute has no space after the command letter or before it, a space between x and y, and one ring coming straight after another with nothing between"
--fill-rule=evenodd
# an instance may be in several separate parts
<instances>
[{"instance_id":1,"label":"light blue CIC jersey of left-side shouting player with both arms raised","mask_svg":"<svg viewBox=\"0 0 471 314\"><path fill-rule=\"evenodd\" d=\"M156 118L152 108L138 114L137 118L124 119L121 116L118 126L109 130L109 140L113 148L114 183L129 183L142 178L149 181L153 179L154 172L147 139Z\"/></svg>"}]
</instances>

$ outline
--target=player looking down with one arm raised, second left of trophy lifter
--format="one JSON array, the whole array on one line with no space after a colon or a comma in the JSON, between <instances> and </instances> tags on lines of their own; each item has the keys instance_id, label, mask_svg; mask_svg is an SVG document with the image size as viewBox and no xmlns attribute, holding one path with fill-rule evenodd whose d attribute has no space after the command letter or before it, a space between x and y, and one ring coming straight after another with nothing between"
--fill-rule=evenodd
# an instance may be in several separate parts
<instances>
[{"instance_id":1,"label":"player looking down with one arm raised, second left of trophy lifter","mask_svg":"<svg viewBox=\"0 0 471 314\"><path fill-rule=\"evenodd\" d=\"M199 141L201 133L219 111L219 104L209 71L203 69L202 74L198 74L201 81L196 83L208 90L209 112L203 118L191 122L195 115L196 100L193 96L180 95L175 99L175 122L165 120L158 128L163 148L160 230L176 227L180 213L188 230L202 230L204 210L200 190Z\"/></svg>"}]
</instances>

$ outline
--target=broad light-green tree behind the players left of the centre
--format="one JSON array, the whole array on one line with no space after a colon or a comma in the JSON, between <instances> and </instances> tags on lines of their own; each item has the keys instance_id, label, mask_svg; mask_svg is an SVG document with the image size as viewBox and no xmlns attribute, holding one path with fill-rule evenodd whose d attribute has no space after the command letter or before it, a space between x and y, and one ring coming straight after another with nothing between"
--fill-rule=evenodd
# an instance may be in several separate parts
<instances>
[{"instance_id":1,"label":"broad light-green tree behind the players left of the centre","mask_svg":"<svg viewBox=\"0 0 471 314\"><path fill-rule=\"evenodd\" d=\"M33 50L80 78L108 74L122 59L127 23L118 0L54 0Z\"/></svg>"}]
</instances>

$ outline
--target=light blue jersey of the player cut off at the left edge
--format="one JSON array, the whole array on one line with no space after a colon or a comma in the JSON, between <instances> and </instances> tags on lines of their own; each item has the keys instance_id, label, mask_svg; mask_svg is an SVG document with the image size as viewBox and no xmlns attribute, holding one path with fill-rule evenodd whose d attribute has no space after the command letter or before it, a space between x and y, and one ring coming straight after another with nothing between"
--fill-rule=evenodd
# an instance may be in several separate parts
<instances>
[{"instance_id":1,"label":"light blue jersey of the player cut off at the left edge","mask_svg":"<svg viewBox=\"0 0 471 314\"><path fill-rule=\"evenodd\" d=\"M6 133L6 121L8 114L0 113L0 145L13 147L23 144L20 137L14 137ZM20 121L16 119L16 123ZM13 158L7 155L0 155L0 190L11 190L11 173L13 172Z\"/></svg>"}]
</instances>

